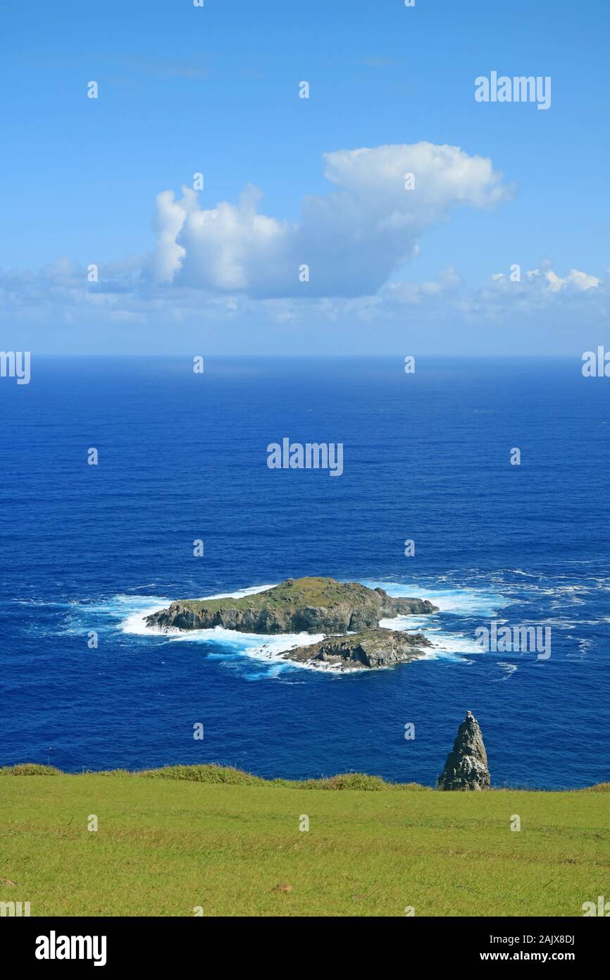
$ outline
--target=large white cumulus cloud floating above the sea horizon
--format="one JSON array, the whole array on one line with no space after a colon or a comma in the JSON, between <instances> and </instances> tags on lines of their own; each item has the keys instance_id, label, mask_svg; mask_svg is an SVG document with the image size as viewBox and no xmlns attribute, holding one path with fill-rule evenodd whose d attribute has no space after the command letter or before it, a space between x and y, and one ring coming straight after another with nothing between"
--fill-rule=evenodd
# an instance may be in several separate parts
<instances>
[{"instance_id":1,"label":"large white cumulus cloud floating above the sea horizon","mask_svg":"<svg viewBox=\"0 0 610 980\"><path fill-rule=\"evenodd\" d=\"M150 274L158 283L255 298L370 295L453 208L488 208L510 196L489 159L456 146L340 150L324 162L332 190L305 196L297 222L259 213L261 192L252 185L237 204L211 209L201 208L189 188L179 200L164 191ZM412 189L405 188L407 174Z\"/></svg>"}]
</instances>

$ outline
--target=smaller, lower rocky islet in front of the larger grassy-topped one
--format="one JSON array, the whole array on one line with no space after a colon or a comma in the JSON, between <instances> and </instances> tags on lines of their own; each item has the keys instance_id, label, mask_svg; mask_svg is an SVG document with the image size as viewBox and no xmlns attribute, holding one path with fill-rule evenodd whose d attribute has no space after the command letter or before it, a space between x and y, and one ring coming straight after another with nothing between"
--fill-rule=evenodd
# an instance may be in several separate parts
<instances>
[{"instance_id":1,"label":"smaller, lower rocky islet in front of the larger grassy-topped one","mask_svg":"<svg viewBox=\"0 0 610 980\"><path fill-rule=\"evenodd\" d=\"M422 633L371 629L349 636L329 636L319 643L289 650L282 657L322 669L361 670L418 660L431 646Z\"/></svg>"}]
</instances>

